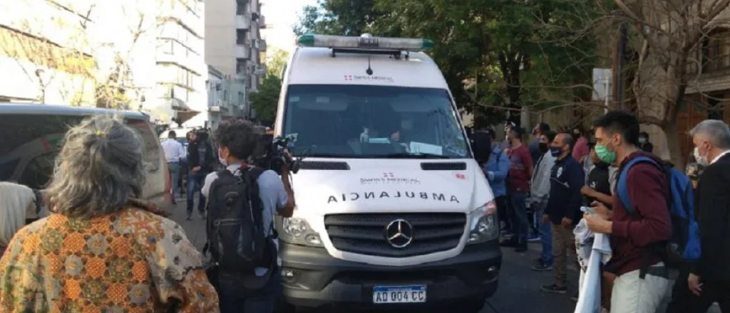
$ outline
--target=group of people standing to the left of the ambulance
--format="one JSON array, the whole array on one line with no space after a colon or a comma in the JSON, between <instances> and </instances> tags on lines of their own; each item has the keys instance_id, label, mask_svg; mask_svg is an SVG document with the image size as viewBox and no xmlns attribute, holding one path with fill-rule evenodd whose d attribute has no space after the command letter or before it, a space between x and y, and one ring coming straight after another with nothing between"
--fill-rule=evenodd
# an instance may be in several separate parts
<instances>
[{"instance_id":1,"label":"group of people standing to the left of the ambulance","mask_svg":"<svg viewBox=\"0 0 730 313\"><path fill-rule=\"evenodd\" d=\"M215 242L204 253L143 199L144 144L120 117L93 116L66 132L43 191L1 182L0 312L272 312L280 287L272 219L293 212L288 169L280 177L248 164L258 144L250 122L222 122L213 137L218 151L193 137L185 156L188 218L200 191L207 212L199 213ZM163 143L169 165L183 158L179 145ZM219 178L210 159L234 179ZM221 222L221 214L240 213L227 207L231 194L255 204L237 209L250 210L250 221Z\"/></svg>"}]
</instances>

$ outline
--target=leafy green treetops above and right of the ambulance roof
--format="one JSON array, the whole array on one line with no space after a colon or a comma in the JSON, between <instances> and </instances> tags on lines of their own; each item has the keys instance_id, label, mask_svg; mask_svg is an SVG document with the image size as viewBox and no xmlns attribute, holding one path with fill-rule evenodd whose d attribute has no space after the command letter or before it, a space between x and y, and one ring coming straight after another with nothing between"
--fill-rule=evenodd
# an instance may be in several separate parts
<instances>
[{"instance_id":1,"label":"leafy green treetops above and right of the ambulance roof","mask_svg":"<svg viewBox=\"0 0 730 313\"><path fill-rule=\"evenodd\" d=\"M592 85L596 38L585 22L596 20L595 5L585 0L320 0L305 9L296 31L432 39L436 47L429 54L459 106L502 119L504 111L496 114L489 107L545 108L590 98L585 86Z\"/></svg>"}]
</instances>

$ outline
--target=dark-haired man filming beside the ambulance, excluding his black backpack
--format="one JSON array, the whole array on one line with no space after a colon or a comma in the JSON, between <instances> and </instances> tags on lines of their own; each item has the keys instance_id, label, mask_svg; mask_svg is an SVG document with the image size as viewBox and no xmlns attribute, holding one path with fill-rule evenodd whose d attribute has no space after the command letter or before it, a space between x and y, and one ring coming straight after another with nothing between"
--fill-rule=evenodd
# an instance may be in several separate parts
<instances>
[{"instance_id":1,"label":"dark-haired man filming beside the ambulance, excluding his black backpack","mask_svg":"<svg viewBox=\"0 0 730 313\"><path fill-rule=\"evenodd\" d=\"M260 135L255 132L253 124L244 119L231 119L221 122L215 130L215 141L218 143L218 158L227 170L234 175L242 175L242 170L254 167L247 163L258 149ZM266 237L272 238L274 251L278 242L274 237L274 212L284 217L291 217L294 210L294 194L289 183L289 170L284 163L281 178L274 170L265 170L256 179L260 207L251 210L263 210L262 224ZM208 195L212 183L218 179L218 173L210 173L205 178L202 194ZM213 196L211 196L213 197ZM210 240L210 238L209 238ZM239 273L218 272L217 282L220 298L220 312L271 313L274 301L280 292L280 271L277 253L274 253L272 264L268 267L256 267L250 277L241 277Z\"/></svg>"}]
</instances>

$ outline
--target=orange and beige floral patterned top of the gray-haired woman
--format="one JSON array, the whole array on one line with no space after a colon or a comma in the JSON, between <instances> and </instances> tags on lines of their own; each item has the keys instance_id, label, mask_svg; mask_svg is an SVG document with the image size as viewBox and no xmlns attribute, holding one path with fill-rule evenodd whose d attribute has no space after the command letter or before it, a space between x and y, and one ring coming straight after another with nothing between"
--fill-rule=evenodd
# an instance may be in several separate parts
<instances>
[{"instance_id":1,"label":"orange and beige floral patterned top of the gray-haired woman","mask_svg":"<svg viewBox=\"0 0 730 313\"><path fill-rule=\"evenodd\" d=\"M183 228L130 206L53 213L18 231L0 260L0 312L219 312Z\"/></svg>"}]
</instances>

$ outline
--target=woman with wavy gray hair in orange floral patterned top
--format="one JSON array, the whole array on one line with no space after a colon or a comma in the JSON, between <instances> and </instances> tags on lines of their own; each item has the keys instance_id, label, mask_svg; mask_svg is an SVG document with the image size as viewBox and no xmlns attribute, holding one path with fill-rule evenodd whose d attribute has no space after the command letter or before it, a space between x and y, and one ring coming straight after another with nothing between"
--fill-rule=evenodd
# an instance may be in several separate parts
<instances>
[{"instance_id":1,"label":"woman with wavy gray hair in orange floral patterned top","mask_svg":"<svg viewBox=\"0 0 730 313\"><path fill-rule=\"evenodd\" d=\"M51 214L0 261L0 312L218 312L201 254L139 199L137 132L112 116L66 132L45 191Z\"/></svg>"}]
</instances>

